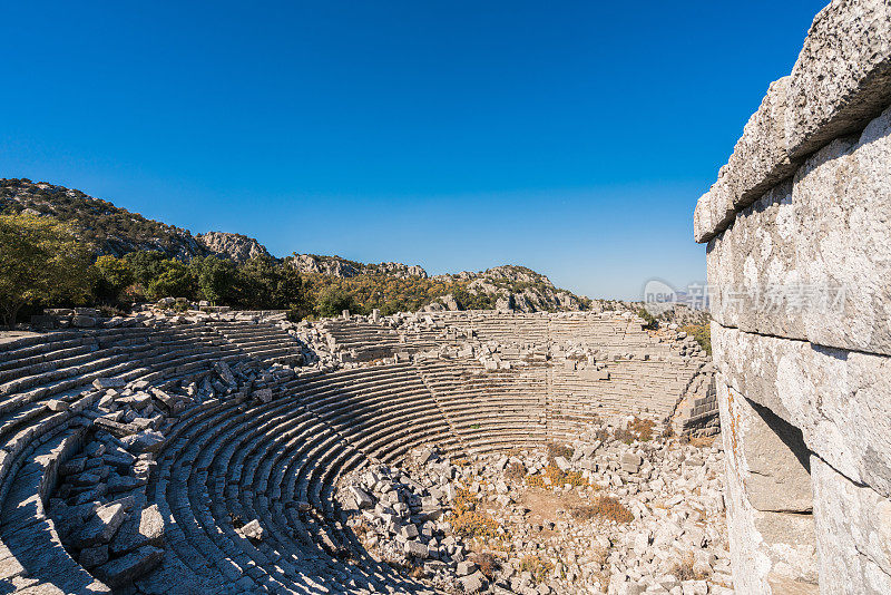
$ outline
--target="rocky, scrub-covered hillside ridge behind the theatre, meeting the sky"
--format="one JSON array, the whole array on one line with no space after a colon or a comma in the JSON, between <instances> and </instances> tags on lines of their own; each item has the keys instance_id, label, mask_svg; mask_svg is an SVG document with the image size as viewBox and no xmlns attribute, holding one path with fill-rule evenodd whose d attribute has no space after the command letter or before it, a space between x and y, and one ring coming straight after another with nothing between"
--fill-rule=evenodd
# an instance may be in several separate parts
<instances>
[{"instance_id":1,"label":"rocky, scrub-covered hillside ridge behind the theatre, meeting the sky","mask_svg":"<svg viewBox=\"0 0 891 595\"><path fill-rule=\"evenodd\" d=\"M169 259L190 261L217 254L244 264L255 257L273 259L268 250L242 234L188 230L148 220L80 191L45 182L0 178L0 213L28 212L69 223L97 254L123 256L158 251ZM518 312L586 310L591 302L558 289L550 280L525 266L503 265L481 272L463 271L431 276L419 265L394 262L361 263L340 256L294 253L278 260L305 275L315 291L336 285L360 298L386 295L393 308L498 309Z\"/></svg>"}]
</instances>

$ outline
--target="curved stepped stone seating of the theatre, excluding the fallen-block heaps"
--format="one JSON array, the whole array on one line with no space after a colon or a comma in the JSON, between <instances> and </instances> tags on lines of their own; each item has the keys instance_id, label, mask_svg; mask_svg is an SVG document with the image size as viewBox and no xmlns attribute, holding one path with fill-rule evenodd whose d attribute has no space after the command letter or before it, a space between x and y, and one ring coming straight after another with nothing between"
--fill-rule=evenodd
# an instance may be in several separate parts
<instances>
[{"instance_id":1,"label":"curved stepped stone seating of the theatre, excluding the fallen-block heaps","mask_svg":"<svg viewBox=\"0 0 891 595\"><path fill-rule=\"evenodd\" d=\"M594 416L665 418L683 401L705 420L714 409L713 392L692 380L702 361L654 348L639 323L611 314L441 312L399 331L364 319L323 324L329 343L354 361L398 363L294 374L271 364L298 362L304 345L273 323L238 319L56 331L0 344L0 586L110 591L65 550L45 511L58 465L88 432L92 418L81 411L102 396L91 389L100 378L183 389L219 361L263 370L253 388L205 399L163 427L166 441L140 504L158 506L165 555L136 581L144 594L170 593L170 585L214 594L424 593L370 558L344 528L334 499L343 474L399 461L422 445L463 457L570 439ZM536 357L488 369L454 357L451 348L471 339L587 343L631 357L577 369L536 347ZM653 349L658 358L635 357ZM273 398L251 398L260 388ZM261 540L239 531L253 520Z\"/></svg>"}]
</instances>

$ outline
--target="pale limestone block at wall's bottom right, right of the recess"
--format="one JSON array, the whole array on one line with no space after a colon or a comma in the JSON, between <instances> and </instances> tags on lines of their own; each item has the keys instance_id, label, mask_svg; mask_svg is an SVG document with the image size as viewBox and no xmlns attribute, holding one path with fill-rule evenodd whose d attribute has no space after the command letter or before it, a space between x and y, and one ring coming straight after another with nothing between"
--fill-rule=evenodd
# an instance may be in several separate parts
<instances>
[{"instance_id":1,"label":"pale limestone block at wall's bottom right, right of the recess","mask_svg":"<svg viewBox=\"0 0 891 595\"><path fill-rule=\"evenodd\" d=\"M811 459L821 592L891 593L891 500Z\"/></svg>"}]
</instances>

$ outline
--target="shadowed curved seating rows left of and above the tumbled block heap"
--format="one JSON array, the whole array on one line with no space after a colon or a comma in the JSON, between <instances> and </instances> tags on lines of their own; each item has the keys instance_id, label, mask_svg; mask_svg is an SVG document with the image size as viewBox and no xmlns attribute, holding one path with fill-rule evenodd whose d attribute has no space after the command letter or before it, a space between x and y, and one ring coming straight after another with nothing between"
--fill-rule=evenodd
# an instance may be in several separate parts
<instances>
[{"instance_id":1,"label":"shadowed curved seating rows left of and above the tumbled block heap","mask_svg":"<svg viewBox=\"0 0 891 595\"><path fill-rule=\"evenodd\" d=\"M99 378L182 381L206 373L221 359L244 357L239 348L199 323L61 331L0 345L3 372L0 384L0 506L7 513L27 507L31 507L33 513L30 517L3 515L0 533L0 553L4 556L4 570L0 574L3 581L35 593L92 593L105 588L99 583L92 585L92 578L86 581L90 575L65 552L52 529L52 521L46 519L42 511L46 492L55 484L56 462L41 461L56 459L47 459L39 449L51 449L52 440L69 443L66 441L71 433L68 426L79 411L100 396L90 390L91 382ZM36 451L38 453L33 455ZM66 449L61 452L61 456L67 456ZM41 465L49 470L40 477L49 479L40 480L41 496L35 500L31 498L37 494L37 476L33 474L36 466ZM35 543L46 547L22 546L21 536L31 534ZM49 544L55 545L50 547ZM52 553L52 556L42 556L35 562L32 554L42 550L47 556ZM60 570L58 576L49 572L50 568L45 567L47 559L52 560L52 568L65 572ZM80 581L78 576L84 578L82 585L77 583ZM74 583L62 581L65 577ZM36 591L38 588L40 591Z\"/></svg>"}]
</instances>

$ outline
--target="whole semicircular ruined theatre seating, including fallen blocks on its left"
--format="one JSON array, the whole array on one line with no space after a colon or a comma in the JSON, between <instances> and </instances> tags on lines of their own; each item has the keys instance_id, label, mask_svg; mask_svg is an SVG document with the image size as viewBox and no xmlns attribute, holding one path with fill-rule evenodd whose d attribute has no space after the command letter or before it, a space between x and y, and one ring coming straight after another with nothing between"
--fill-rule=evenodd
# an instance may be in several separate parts
<instances>
[{"instance_id":1,"label":"whole semicircular ruined theatre seating, including fallen blocks on its left","mask_svg":"<svg viewBox=\"0 0 891 595\"><path fill-rule=\"evenodd\" d=\"M0 579L21 593L423 592L358 543L342 477L716 418L699 345L629 313L53 314L69 328L0 345ZM389 523L417 536L439 496ZM407 543L431 575L463 559Z\"/></svg>"}]
</instances>

